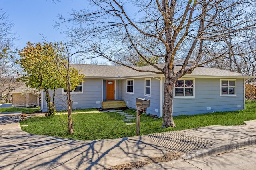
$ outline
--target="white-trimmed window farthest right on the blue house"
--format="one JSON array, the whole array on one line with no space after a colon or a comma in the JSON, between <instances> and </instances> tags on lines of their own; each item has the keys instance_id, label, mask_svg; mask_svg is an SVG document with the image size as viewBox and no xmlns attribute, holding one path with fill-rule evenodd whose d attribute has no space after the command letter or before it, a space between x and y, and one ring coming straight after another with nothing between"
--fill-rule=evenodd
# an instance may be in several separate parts
<instances>
[{"instance_id":1,"label":"white-trimmed window farthest right on the blue house","mask_svg":"<svg viewBox=\"0 0 256 170\"><path fill-rule=\"evenodd\" d=\"M220 79L220 96L236 96L235 79Z\"/></svg>"}]
</instances>

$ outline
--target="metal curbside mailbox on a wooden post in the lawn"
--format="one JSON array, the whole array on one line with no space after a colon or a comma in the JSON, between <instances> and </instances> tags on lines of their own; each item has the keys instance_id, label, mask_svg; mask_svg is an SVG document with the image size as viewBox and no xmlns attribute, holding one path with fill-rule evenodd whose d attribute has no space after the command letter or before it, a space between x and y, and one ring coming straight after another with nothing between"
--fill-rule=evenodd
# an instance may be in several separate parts
<instances>
[{"instance_id":1,"label":"metal curbside mailbox on a wooden post in the lawn","mask_svg":"<svg viewBox=\"0 0 256 170\"><path fill-rule=\"evenodd\" d=\"M140 114L144 111L147 111L149 107L150 100L145 98L136 98L136 110L137 110L137 126L136 126L136 135L140 136Z\"/></svg>"}]
</instances>

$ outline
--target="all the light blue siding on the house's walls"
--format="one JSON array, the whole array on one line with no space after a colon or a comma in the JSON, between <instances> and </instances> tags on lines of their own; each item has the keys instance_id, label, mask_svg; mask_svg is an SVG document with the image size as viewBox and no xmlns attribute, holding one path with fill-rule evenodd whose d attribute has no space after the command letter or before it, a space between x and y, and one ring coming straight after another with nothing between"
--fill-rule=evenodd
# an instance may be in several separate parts
<instances>
[{"instance_id":1,"label":"all the light blue siding on the house's walls","mask_svg":"<svg viewBox=\"0 0 256 170\"><path fill-rule=\"evenodd\" d=\"M83 93L72 94L75 103L73 109L102 107L102 98L106 100L106 80L84 78ZM116 100L124 100L126 106L135 109L136 98L150 99L147 113L160 116L160 109L162 109L160 106L160 81L151 78L151 96L148 97L145 96L145 78L133 78L133 80L134 94L126 92L126 79L115 80ZM194 98L174 98L174 116L244 109L244 79L236 79L236 96L220 96L220 78L195 78L194 88ZM66 94L62 94L62 89L56 90L55 105L57 110L66 109ZM207 107L210 107L210 110L207 110ZM43 111L47 111L46 102L44 102Z\"/></svg>"}]
</instances>

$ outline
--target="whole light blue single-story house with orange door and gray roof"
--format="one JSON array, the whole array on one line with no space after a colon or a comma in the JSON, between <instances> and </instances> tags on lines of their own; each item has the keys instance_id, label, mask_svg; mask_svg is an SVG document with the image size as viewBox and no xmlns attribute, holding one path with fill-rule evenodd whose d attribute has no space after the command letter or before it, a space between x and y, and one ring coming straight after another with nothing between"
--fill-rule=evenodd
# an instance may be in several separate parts
<instances>
[{"instance_id":1,"label":"whole light blue single-story house with orange door and gray roof","mask_svg":"<svg viewBox=\"0 0 256 170\"><path fill-rule=\"evenodd\" d=\"M192 64L190 60L189 64ZM181 68L183 61L177 61L174 70ZM164 64L157 64L164 67ZM99 108L108 100L122 100L127 107L136 108L136 98L150 99L147 112L162 116L164 100L164 75L138 72L124 66L102 66L72 64L85 75L84 83L72 91L74 108ZM152 66L136 67L140 70L158 71ZM245 109L244 82L254 78L235 72L208 68L196 68L192 74L184 75L176 82L173 115L192 115L215 111ZM44 96L42 96L42 101ZM66 109L66 92L56 90L57 110ZM46 102L41 106L47 111Z\"/></svg>"}]
</instances>

